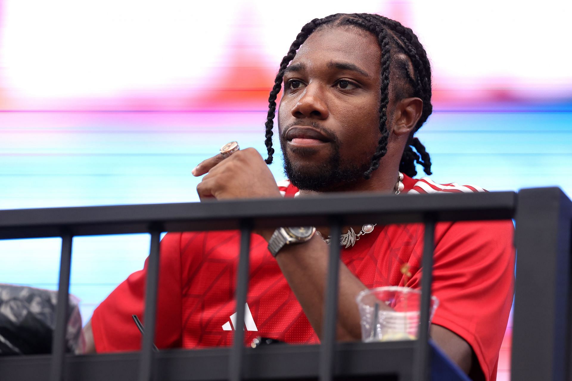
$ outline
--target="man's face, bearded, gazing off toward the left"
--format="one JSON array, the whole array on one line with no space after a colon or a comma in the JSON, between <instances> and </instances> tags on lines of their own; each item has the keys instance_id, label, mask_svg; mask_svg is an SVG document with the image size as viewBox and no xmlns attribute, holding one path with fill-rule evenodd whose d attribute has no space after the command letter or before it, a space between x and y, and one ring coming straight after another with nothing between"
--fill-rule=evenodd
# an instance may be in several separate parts
<instances>
[{"instance_id":1,"label":"man's face, bearded, gazing off toward the left","mask_svg":"<svg viewBox=\"0 0 572 381\"><path fill-rule=\"evenodd\" d=\"M284 74L278 123L284 170L300 189L361 179L380 137L380 49L365 31L315 31Z\"/></svg>"}]
</instances>

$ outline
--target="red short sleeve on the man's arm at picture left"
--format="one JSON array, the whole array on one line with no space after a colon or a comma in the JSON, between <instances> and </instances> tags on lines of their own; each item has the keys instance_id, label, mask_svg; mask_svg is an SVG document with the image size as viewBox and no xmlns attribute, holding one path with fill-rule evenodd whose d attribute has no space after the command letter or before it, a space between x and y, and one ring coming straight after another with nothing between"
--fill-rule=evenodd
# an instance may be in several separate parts
<instances>
[{"instance_id":1,"label":"red short sleeve on the man's arm at picture left","mask_svg":"<svg viewBox=\"0 0 572 381\"><path fill-rule=\"evenodd\" d=\"M157 324L154 343L159 348L181 345L181 233L168 233L161 240L157 295ZM92 317L97 352L135 351L141 348L141 333L133 321L137 315L145 326L145 280L149 258L143 270L122 282L96 308Z\"/></svg>"}]
</instances>

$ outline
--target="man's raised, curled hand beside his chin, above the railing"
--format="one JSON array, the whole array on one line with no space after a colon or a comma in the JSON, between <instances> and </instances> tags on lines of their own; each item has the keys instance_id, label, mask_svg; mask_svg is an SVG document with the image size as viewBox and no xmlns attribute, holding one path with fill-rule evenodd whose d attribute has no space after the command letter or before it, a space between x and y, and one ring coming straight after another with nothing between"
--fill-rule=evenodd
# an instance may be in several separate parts
<instances>
[{"instance_id":1,"label":"man's raised, curled hand beside his chin, above the railing","mask_svg":"<svg viewBox=\"0 0 572 381\"><path fill-rule=\"evenodd\" d=\"M236 151L227 158L219 154L201 162L192 174L205 175L197 185L199 198L280 198L271 171L253 148Z\"/></svg>"}]
</instances>

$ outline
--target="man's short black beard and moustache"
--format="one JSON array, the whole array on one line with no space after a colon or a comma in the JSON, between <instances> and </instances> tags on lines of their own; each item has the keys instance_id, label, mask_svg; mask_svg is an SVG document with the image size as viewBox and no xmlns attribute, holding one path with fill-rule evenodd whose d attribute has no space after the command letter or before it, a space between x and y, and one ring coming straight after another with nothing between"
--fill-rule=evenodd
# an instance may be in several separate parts
<instances>
[{"instance_id":1,"label":"man's short black beard and moustache","mask_svg":"<svg viewBox=\"0 0 572 381\"><path fill-rule=\"evenodd\" d=\"M292 162L288 157L287 139L284 136L288 129L284 129L280 137L280 146L284 157L284 174L292 185L299 190L326 192L362 179L363 174L370 168L370 161L352 163L344 160L340 155L340 142L337 136L317 123L312 123L312 126L331 139L332 154L321 163ZM303 156L304 151L300 150L297 154Z\"/></svg>"}]
</instances>

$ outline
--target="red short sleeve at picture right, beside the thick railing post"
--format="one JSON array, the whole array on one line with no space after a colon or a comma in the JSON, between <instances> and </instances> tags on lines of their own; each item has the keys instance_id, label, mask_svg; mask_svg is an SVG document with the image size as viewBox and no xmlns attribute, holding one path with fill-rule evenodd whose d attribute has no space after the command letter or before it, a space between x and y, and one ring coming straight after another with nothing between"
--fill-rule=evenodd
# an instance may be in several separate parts
<instances>
[{"instance_id":1,"label":"red short sleeve at picture right, beside the thick railing post","mask_svg":"<svg viewBox=\"0 0 572 381\"><path fill-rule=\"evenodd\" d=\"M440 223L435 228L432 323L462 337L494 379L514 295L512 220ZM411 287L420 287L418 272Z\"/></svg>"}]
</instances>

